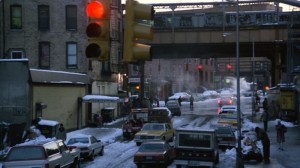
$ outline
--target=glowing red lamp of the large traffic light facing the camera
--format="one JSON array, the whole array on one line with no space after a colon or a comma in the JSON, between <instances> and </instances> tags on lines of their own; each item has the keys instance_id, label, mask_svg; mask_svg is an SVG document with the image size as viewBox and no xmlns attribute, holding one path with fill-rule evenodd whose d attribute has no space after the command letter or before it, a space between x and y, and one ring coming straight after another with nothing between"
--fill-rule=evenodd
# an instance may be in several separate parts
<instances>
[{"instance_id":1,"label":"glowing red lamp of the large traffic light facing the camera","mask_svg":"<svg viewBox=\"0 0 300 168\"><path fill-rule=\"evenodd\" d=\"M86 7L86 13L88 17L94 18L94 19L101 19L105 16L105 9L102 3L98 1L93 1L88 4Z\"/></svg>"}]
</instances>

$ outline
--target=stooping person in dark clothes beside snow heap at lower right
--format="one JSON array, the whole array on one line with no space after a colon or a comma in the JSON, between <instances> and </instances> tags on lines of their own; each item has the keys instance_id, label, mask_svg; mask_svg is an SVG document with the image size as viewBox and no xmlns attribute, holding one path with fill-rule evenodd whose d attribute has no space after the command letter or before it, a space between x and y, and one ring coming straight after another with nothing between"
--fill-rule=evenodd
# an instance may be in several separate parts
<instances>
[{"instance_id":1,"label":"stooping person in dark clothes beside snow heap at lower right","mask_svg":"<svg viewBox=\"0 0 300 168\"><path fill-rule=\"evenodd\" d=\"M261 128L256 127L255 132L257 135L257 140L261 140L263 145L263 153L264 153L264 162L270 163L270 139L268 134Z\"/></svg>"}]
</instances>

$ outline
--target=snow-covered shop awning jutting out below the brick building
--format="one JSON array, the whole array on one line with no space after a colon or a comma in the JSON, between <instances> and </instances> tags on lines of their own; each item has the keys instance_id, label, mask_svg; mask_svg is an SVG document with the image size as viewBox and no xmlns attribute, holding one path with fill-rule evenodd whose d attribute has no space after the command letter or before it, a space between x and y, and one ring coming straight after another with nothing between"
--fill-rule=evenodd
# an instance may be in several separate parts
<instances>
[{"instance_id":1,"label":"snow-covered shop awning jutting out below the brick building","mask_svg":"<svg viewBox=\"0 0 300 168\"><path fill-rule=\"evenodd\" d=\"M103 95L86 95L82 98L83 103L117 103L119 101L119 97Z\"/></svg>"}]
</instances>

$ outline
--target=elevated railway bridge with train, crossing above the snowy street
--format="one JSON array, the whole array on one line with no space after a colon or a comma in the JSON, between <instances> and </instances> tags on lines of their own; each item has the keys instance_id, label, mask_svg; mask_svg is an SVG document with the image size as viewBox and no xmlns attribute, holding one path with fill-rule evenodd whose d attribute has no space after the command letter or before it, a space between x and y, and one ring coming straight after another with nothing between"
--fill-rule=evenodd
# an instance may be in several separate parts
<instances>
[{"instance_id":1,"label":"elevated railway bridge with train, crossing above the snowy street","mask_svg":"<svg viewBox=\"0 0 300 168\"><path fill-rule=\"evenodd\" d=\"M231 1L154 4L171 11L154 16L152 58L235 58L238 40L240 57L271 60L272 84L280 82L282 73L292 80L300 73L300 12L283 12L270 2L243 1L238 8ZM284 2L300 6L298 1Z\"/></svg>"}]
</instances>

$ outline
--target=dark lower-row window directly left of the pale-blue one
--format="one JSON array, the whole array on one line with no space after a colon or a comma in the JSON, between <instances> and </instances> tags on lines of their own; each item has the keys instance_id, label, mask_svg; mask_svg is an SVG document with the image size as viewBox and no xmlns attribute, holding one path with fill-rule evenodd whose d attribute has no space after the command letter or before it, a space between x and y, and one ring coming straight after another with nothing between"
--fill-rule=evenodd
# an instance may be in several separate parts
<instances>
[{"instance_id":1,"label":"dark lower-row window directly left of the pale-blue one","mask_svg":"<svg viewBox=\"0 0 300 168\"><path fill-rule=\"evenodd\" d=\"M39 43L39 66L40 68L50 68L50 43Z\"/></svg>"}]
</instances>

